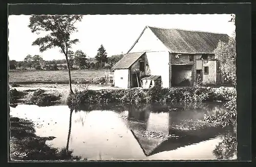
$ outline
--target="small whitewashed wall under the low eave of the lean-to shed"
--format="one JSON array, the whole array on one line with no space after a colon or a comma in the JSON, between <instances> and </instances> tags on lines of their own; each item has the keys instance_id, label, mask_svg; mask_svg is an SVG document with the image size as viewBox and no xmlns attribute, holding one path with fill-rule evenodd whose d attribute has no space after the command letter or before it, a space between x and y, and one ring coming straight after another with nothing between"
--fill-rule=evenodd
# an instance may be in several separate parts
<instances>
[{"instance_id":1,"label":"small whitewashed wall under the low eave of the lean-to shed","mask_svg":"<svg viewBox=\"0 0 256 167\"><path fill-rule=\"evenodd\" d=\"M115 70L114 71L115 87L128 88L128 76L129 76L129 69Z\"/></svg>"}]
</instances>

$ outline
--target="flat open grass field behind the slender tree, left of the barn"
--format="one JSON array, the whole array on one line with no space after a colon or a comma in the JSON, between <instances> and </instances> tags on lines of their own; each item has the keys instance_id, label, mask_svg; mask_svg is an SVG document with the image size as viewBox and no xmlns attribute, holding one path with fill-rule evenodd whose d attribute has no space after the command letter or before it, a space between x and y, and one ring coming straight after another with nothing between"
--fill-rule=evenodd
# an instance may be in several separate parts
<instances>
[{"instance_id":1,"label":"flat open grass field behind the slender tree, left of the barn","mask_svg":"<svg viewBox=\"0 0 256 167\"><path fill-rule=\"evenodd\" d=\"M69 82L68 71L10 71L10 83L16 84L67 84ZM72 82L98 80L104 77L104 70L72 70Z\"/></svg>"}]
</instances>

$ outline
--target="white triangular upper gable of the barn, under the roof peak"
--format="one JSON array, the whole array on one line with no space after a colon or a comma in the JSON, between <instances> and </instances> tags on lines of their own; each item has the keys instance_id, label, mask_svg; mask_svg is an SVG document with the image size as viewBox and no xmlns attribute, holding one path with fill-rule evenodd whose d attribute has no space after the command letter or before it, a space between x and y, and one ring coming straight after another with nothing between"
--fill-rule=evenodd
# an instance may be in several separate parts
<instances>
[{"instance_id":1,"label":"white triangular upper gable of the barn, under the roof peak","mask_svg":"<svg viewBox=\"0 0 256 167\"><path fill-rule=\"evenodd\" d=\"M149 28L147 28L135 46L130 50L131 53L142 51L167 51L167 48L155 36L155 34Z\"/></svg>"}]
</instances>

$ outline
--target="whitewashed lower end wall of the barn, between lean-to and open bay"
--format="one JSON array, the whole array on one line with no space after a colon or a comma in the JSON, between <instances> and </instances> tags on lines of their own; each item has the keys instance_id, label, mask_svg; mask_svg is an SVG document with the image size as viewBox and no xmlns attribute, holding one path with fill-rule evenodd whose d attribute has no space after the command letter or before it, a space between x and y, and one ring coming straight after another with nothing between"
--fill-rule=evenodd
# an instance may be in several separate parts
<instances>
[{"instance_id":1,"label":"whitewashed lower end wall of the barn, between lean-to and open bay","mask_svg":"<svg viewBox=\"0 0 256 167\"><path fill-rule=\"evenodd\" d=\"M145 57L148 61L151 75L160 75L162 78L161 87L169 88L169 52L146 52Z\"/></svg>"}]
</instances>

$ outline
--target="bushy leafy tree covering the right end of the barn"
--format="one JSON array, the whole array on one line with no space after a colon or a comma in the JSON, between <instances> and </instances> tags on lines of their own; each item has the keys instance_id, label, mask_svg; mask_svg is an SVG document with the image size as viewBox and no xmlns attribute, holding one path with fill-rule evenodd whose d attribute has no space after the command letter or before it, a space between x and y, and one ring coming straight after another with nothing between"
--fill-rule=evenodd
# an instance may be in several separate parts
<instances>
[{"instance_id":1,"label":"bushy leafy tree covering the right end of the barn","mask_svg":"<svg viewBox=\"0 0 256 167\"><path fill-rule=\"evenodd\" d=\"M216 59L220 61L220 70L224 79L231 81L232 85L236 86L236 40L233 37L230 37L228 42L220 41L214 52Z\"/></svg>"}]
</instances>

